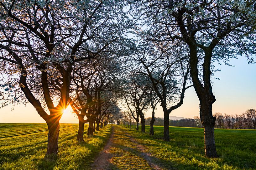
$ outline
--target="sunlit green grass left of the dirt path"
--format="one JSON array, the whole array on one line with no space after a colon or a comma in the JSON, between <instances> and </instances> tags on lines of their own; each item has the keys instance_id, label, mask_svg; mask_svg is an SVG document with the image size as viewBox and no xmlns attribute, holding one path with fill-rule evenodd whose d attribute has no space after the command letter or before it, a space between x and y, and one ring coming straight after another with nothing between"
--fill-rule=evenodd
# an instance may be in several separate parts
<instances>
[{"instance_id":1,"label":"sunlit green grass left of the dirt path","mask_svg":"<svg viewBox=\"0 0 256 170\"><path fill-rule=\"evenodd\" d=\"M78 124L60 124L59 154L56 160L44 159L47 150L46 124L0 124L0 170L82 170L103 148L111 134L108 125L85 142L76 141Z\"/></svg>"}]
</instances>

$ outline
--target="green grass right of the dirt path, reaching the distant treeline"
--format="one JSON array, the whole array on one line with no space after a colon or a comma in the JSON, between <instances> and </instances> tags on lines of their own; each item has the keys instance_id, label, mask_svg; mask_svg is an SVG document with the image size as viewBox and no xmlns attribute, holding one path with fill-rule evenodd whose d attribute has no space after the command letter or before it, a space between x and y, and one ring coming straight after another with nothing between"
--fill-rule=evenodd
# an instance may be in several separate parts
<instances>
[{"instance_id":1,"label":"green grass right of the dirt path, reaching the distant treeline","mask_svg":"<svg viewBox=\"0 0 256 170\"><path fill-rule=\"evenodd\" d=\"M154 126L154 136L127 129L129 135L165 168L180 170L256 170L256 130L215 129L219 158L204 157L203 129L170 127L170 142L163 141L163 126ZM168 169L169 169L168 168Z\"/></svg>"}]
</instances>

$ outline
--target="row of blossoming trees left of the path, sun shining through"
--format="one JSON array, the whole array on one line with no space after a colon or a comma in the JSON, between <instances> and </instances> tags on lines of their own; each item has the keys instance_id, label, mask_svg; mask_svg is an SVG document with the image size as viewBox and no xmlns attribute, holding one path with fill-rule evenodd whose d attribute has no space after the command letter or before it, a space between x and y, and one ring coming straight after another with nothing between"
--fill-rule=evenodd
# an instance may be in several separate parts
<instances>
[{"instance_id":1,"label":"row of blossoming trees left of the path, sun shining through","mask_svg":"<svg viewBox=\"0 0 256 170\"><path fill-rule=\"evenodd\" d=\"M84 123L107 121L119 112L114 70L122 56L124 32L130 19L123 1L0 2L2 107L31 103L48 125L46 157L58 153L59 120L71 105ZM118 78L117 78L118 79ZM87 119L84 119L86 116Z\"/></svg>"}]
</instances>

